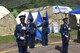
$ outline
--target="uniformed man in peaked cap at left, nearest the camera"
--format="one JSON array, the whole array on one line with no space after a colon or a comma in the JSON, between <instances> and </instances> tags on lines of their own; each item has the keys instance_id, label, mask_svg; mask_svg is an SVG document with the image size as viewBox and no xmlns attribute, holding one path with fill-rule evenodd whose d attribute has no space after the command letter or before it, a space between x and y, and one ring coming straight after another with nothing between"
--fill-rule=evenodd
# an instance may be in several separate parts
<instances>
[{"instance_id":1,"label":"uniformed man in peaked cap at left, nearest the camera","mask_svg":"<svg viewBox=\"0 0 80 53\"><path fill-rule=\"evenodd\" d=\"M19 53L27 53L28 37L27 24L25 24L25 15L20 15L20 24L16 25L14 35L18 44Z\"/></svg>"}]
</instances>

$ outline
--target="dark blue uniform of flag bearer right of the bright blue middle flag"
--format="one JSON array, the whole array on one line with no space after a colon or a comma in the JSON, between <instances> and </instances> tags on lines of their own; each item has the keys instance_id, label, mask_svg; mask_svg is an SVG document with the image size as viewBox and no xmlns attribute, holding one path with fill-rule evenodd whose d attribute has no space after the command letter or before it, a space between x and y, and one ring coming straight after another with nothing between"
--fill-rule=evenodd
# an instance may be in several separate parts
<instances>
[{"instance_id":1,"label":"dark blue uniform of flag bearer right of the bright blue middle flag","mask_svg":"<svg viewBox=\"0 0 80 53\"><path fill-rule=\"evenodd\" d=\"M48 22L43 21L42 23L42 45L48 45Z\"/></svg>"}]
</instances>

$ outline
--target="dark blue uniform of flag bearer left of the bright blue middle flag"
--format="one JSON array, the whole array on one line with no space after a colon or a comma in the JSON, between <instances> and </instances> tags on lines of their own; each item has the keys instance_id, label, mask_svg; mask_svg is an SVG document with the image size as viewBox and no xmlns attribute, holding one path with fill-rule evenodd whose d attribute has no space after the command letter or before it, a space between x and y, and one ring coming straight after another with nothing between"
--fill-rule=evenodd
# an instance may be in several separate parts
<instances>
[{"instance_id":1,"label":"dark blue uniform of flag bearer left of the bright blue middle flag","mask_svg":"<svg viewBox=\"0 0 80 53\"><path fill-rule=\"evenodd\" d=\"M29 47L35 47L36 25L35 23L29 23Z\"/></svg>"}]
</instances>

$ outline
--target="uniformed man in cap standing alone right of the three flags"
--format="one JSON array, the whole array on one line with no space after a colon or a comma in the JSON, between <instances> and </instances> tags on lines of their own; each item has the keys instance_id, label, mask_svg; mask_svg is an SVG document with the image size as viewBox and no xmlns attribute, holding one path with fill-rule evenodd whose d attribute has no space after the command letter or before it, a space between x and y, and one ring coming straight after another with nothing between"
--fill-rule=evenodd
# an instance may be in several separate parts
<instances>
[{"instance_id":1,"label":"uniformed man in cap standing alone right of the three flags","mask_svg":"<svg viewBox=\"0 0 80 53\"><path fill-rule=\"evenodd\" d=\"M68 45L70 39L70 26L68 24L68 18L63 19L63 24L60 27L60 33L62 36L62 53L68 53Z\"/></svg>"}]
</instances>

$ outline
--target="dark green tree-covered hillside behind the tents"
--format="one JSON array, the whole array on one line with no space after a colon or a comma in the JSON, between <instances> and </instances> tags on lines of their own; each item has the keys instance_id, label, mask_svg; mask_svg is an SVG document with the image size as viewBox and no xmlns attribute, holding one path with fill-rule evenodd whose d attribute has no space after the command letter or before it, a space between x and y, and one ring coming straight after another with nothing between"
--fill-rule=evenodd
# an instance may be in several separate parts
<instances>
[{"instance_id":1,"label":"dark green tree-covered hillside behind the tents","mask_svg":"<svg viewBox=\"0 0 80 53\"><path fill-rule=\"evenodd\" d=\"M80 0L0 0L0 5L5 6L11 12L17 11L19 13L22 10L29 8L38 8L53 5L66 5L72 8L76 8L79 7L79 2Z\"/></svg>"}]
</instances>

